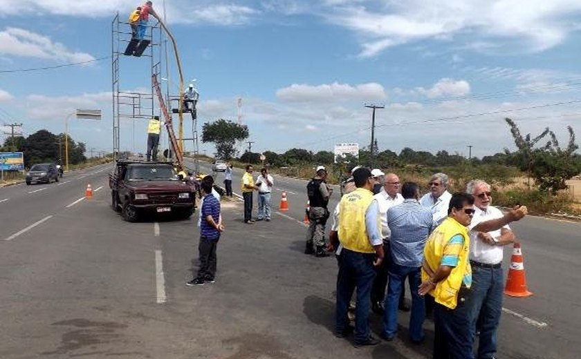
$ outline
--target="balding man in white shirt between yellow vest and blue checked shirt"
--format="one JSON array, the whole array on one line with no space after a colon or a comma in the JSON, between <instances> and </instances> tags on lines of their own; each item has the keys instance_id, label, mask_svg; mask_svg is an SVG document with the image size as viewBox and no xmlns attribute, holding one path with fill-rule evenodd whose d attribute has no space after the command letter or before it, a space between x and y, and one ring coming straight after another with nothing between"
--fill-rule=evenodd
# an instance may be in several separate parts
<instances>
[{"instance_id":1,"label":"balding man in white shirt between yellow vest and blue checked shirt","mask_svg":"<svg viewBox=\"0 0 581 359\"><path fill-rule=\"evenodd\" d=\"M383 313L383 300L385 299L385 287L387 287L387 271L391 265L391 253L389 251L389 236L391 232L387 226L387 210L393 206L403 203L403 197L399 193L400 180L395 173L387 173L383 176L383 188L380 193L374 195L379 207L379 216L381 219L381 237L383 240L383 252L385 259L381 266L377 268L377 275L374 280L374 286L371 289L371 310L375 313ZM400 297L400 309L405 310L403 302L403 291ZM409 310L409 309L408 309Z\"/></svg>"}]
</instances>

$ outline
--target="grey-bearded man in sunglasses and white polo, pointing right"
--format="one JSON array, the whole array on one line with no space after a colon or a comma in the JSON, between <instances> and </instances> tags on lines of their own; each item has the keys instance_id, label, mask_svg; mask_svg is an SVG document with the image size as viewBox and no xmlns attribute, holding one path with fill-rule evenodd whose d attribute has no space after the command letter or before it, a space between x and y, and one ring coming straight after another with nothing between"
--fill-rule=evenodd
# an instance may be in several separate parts
<instances>
[{"instance_id":1,"label":"grey-bearded man in sunglasses and white polo, pointing right","mask_svg":"<svg viewBox=\"0 0 581 359\"><path fill-rule=\"evenodd\" d=\"M503 214L491 206L490 185L481 179L468 182L466 192L474 195L474 217L470 229L470 264L472 288L466 302L472 340L479 334L478 359L493 359L497 351L496 332L502 312L504 273L503 246L515 242L508 224L526 215L526 207Z\"/></svg>"}]
</instances>

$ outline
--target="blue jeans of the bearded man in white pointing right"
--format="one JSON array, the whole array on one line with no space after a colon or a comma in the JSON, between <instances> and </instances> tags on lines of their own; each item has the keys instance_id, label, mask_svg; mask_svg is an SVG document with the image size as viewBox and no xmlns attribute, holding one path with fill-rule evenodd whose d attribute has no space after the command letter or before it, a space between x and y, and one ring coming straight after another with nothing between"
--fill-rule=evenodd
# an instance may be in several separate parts
<instances>
[{"instance_id":1,"label":"blue jeans of the bearded man in white pointing right","mask_svg":"<svg viewBox=\"0 0 581 359\"><path fill-rule=\"evenodd\" d=\"M472 266L472 286L466 307L470 316L472 340L476 331L480 331L477 351L479 359L494 358L497 352L496 332L502 313L503 290L502 268Z\"/></svg>"}]
</instances>

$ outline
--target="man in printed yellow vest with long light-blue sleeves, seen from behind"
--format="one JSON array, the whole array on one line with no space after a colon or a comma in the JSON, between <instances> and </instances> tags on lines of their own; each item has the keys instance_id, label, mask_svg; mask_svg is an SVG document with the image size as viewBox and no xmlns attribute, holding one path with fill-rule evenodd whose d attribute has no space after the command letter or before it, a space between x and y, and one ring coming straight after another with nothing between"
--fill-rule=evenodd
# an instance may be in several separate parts
<instances>
[{"instance_id":1,"label":"man in printed yellow vest with long light-blue sleeves, seen from behind","mask_svg":"<svg viewBox=\"0 0 581 359\"><path fill-rule=\"evenodd\" d=\"M339 204L338 237L342 250L337 278L337 307L335 336L344 338L349 327L349 302L357 287L355 347L377 345L379 340L369 333L371 285L383 260L383 241L380 235L379 208L374 199L374 180L369 168L353 172L355 191L344 195Z\"/></svg>"}]
</instances>

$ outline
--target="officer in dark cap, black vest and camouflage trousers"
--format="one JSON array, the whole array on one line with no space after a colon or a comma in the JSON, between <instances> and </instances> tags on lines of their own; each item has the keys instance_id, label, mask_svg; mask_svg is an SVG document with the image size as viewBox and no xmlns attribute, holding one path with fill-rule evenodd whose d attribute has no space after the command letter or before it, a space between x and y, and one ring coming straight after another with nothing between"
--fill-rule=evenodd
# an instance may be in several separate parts
<instances>
[{"instance_id":1,"label":"officer in dark cap, black vest and camouflage trousers","mask_svg":"<svg viewBox=\"0 0 581 359\"><path fill-rule=\"evenodd\" d=\"M329 218L329 197L333 189L326 184L326 168L317 166L317 175L306 185L308 202L311 209L308 211L308 229L306 231L305 254L315 254L317 257L326 257L325 245L325 224Z\"/></svg>"}]
</instances>

